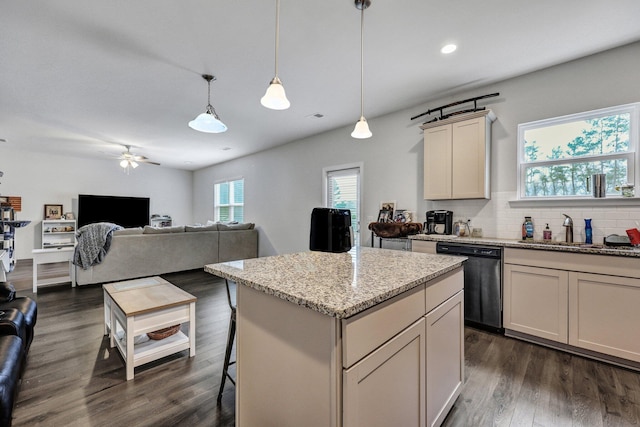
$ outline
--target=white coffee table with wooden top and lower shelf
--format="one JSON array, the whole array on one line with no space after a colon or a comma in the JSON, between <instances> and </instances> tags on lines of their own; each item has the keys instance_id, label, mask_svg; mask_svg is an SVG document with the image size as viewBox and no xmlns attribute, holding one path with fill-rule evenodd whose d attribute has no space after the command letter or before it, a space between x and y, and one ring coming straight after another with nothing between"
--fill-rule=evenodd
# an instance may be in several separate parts
<instances>
[{"instance_id":1,"label":"white coffee table with wooden top and lower shelf","mask_svg":"<svg viewBox=\"0 0 640 427\"><path fill-rule=\"evenodd\" d=\"M105 335L125 361L127 381L136 366L189 349L196 355L196 300L193 295L160 277L127 280L103 285ZM180 330L162 340L136 343L136 337L169 326L189 323L188 334Z\"/></svg>"}]
</instances>

